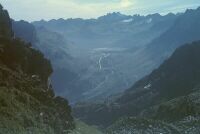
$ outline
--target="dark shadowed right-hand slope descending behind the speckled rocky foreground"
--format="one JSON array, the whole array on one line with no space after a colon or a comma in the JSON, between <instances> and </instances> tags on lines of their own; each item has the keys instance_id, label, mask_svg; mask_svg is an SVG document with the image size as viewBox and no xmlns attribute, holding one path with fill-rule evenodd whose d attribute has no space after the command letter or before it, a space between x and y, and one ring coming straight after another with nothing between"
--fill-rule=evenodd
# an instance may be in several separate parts
<instances>
[{"instance_id":1,"label":"dark shadowed right-hand slope descending behind the speckled rocky foreground","mask_svg":"<svg viewBox=\"0 0 200 134\"><path fill-rule=\"evenodd\" d=\"M126 90L124 94L112 101L105 102L104 104L77 105L74 108L74 113L77 117L88 123L97 125L104 124L105 126L108 126L120 117L138 116L143 114L142 111L149 109L154 105L166 103L171 99L187 96L190 93L195 94L196 91L199 91L200 87L199 57L200 42L184 45L178 48L158 69L136 82L134 86ZM192 97L193 96L190 96L190 99L194 99ZM195 98L198 97L197 92ZM187 101L183 100L180 99L180 102L186 104ZM195 101L193 103L195 103ZM188 105L185 105L185 107L183 106L183 109L179 109L179 104L180 107L182 107L181 103L172 103L172 107L175 106L177 111L173 113L176 116L178 113L183 112L184 109L186 109L186 113L183 115L195 115L194 113L199 113L198 109L196 109L195 112L190 112L190 110L187 109L189 108L187 107ZM165 110L167 111L167 108ZM145 113L150 115L150 113L157 112L147 111ZM167 112L165 114L167 114ZM171 113L171 115L173 114ZM159 115L162 116L162 114ZM171 117L170 115L166 115L165 118L170 119ZM181 118L184 118L184 116L181 116ZM158 117L158 119L163 118Z\"/></svg>"}]
</instances>

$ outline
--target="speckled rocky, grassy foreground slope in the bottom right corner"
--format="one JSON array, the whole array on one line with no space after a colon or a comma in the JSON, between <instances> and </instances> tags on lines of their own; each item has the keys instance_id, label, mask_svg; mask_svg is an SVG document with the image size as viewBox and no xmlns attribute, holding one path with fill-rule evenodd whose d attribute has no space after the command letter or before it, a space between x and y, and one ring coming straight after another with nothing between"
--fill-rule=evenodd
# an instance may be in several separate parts
<instances>
[{"instance_id":1,"label":"speckled rocky, grassy foreground slope in the bottom right corner","mask_svg":"<svg viewBox=\"0 0 200 134\"><path fill-rule=\"evenodd\" d=\"M138 117L121 118L108 134L197 134L200 132L200 89L144 110Z\"/></svg>"}]
</instances>

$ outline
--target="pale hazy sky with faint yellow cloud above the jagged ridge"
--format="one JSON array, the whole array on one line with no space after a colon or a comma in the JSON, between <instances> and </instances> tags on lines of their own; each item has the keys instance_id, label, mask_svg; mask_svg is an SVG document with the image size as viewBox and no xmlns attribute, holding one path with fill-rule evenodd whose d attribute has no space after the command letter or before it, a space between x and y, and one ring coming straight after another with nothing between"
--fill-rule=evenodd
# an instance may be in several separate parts
<instances>
[{"instance_id":1,"label":"pale hazy sky with faint yellow cloud above the jagged ridge","mask_svg":"<svg viewBox=\"0 0 200 134\"><path fill-rule=\"evenodd\" d=\"M182 12L200 6L200 0L0 0L15 20L96 18L108 12L149 14Z\"/></svg>"}]
</instances>

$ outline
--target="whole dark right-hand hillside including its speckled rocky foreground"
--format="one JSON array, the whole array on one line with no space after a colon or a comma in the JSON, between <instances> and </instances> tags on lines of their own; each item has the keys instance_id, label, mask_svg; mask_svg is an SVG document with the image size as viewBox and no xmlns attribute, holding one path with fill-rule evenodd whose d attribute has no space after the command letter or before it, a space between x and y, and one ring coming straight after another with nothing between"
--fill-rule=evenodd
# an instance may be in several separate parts
<instances>
[{"instance_id":1,"label":"whole dark right-hand hillside including its speckled rocky foreground","mask_svg":"<svg viewBox=\"0 0 200 134\"><path fill-rule=\"evenodd\" d=\"M121 117L124 118L112 126L113 132L123 133L123 129L137 133L174 132L174 128L184 132L194 124L194 131L199 131L199 120L182 120L188 116L199 117L200 87L200 42L184 45L173 53L161 66L151 74L139 80L122 95L104 104L79 104L74 113L80 119L96 125L109 126ZM105 118L101 118L105 117ZM146 119L145 119L146 118ZM129 121L127 121L129 120ZM156 127L160 122L160 126ZM135 123L134 123L135 122ZM129 124L130 123L130 124ZM135 125L131 125L131 123ZM143 127L140 123L147 123ZM152 128L149 126L152 126ZM154 127L153 127L154 126ZM124 128L125 127L125 128ZM141 128L142 127L142 128ZM157 131L161 129L160 131ZM177 129L175 129L177 131ZM111 133L111 132L110 132Z\"/></svg>"}]
</instances>

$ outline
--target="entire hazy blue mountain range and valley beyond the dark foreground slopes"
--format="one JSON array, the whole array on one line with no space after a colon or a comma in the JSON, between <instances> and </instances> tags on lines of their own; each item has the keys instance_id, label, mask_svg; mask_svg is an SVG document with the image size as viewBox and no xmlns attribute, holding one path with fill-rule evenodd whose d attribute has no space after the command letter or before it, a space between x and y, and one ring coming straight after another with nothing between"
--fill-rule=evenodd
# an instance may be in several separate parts
<instances>
[{"instance_id":1,"label":"entire hazy blue mountain range and valley beyond the dark foreground slopes","mask_svg":"<svg viewBox=\"0 0 200 134\"><path fill-rule=\"evenodd\" d=\"M165 16L115 12L97 19L41 20L29 23L29 28L23 21L13 25L21 38L20 23L29 29L23 33L30 39L24 39L52 61L56 93L76 103L123 92L181 44L198 40L199 11Z\"/></svg>"}]
</instances>

